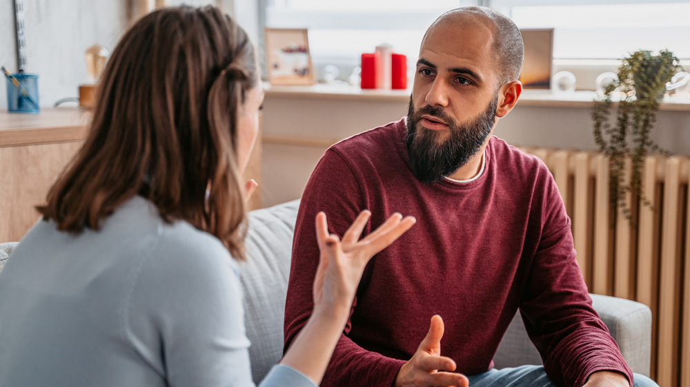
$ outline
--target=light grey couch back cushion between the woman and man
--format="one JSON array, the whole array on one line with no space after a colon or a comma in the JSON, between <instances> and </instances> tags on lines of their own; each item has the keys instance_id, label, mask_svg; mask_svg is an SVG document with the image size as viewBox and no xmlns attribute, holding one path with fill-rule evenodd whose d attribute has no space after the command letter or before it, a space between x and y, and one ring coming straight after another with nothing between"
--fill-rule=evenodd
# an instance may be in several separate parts
<instances>
[{"instance_id":1,"label":"light grey couch back cushion between the woman and man","mask_svg":"<svg viewBox=\"0 0 690 387\"><path fill-rule=\"evenodd\" d=\"M283 354L285 295L299 200L249 213L247 262L239 265L255 384Z\"/></svg>"}]
</instances>

